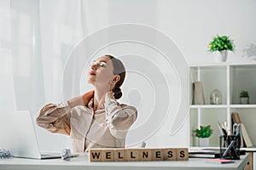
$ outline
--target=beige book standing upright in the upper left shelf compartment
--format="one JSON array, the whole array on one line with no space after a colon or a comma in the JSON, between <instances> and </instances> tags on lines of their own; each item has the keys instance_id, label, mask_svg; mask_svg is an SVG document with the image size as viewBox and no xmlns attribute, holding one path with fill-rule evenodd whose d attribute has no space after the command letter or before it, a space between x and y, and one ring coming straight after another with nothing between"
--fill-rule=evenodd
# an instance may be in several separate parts
<instances>
[{"instance_id":1,"label":"beige book standing upright in the upper left shelf compartment","mask_svg":"<svg viewBox=\"0 0 256 170\"><path fill-rule=\"evenodd\" d=\"M205 105L205 96L202 82L193 82L193 105Z\"/></svg>"}]
</instances>

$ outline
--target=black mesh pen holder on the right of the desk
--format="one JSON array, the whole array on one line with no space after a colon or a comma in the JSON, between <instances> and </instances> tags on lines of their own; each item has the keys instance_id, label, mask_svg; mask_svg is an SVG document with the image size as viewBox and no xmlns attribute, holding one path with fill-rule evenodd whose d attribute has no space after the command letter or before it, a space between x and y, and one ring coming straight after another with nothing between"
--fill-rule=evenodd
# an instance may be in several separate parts
<instances>
[{"instance_id":1,"label":"black mesh pen holder on the right of the desk","mask_svg":"<svg viewBox=\"0 0 256 170\"><path fill-rule=\"evenodd\" d=\"M235 135L219 136L220 158L240 160L240 146L241 146L240 138L241 138L240 136L235 136ZM223 147L223 145L225 147Z\"/></svg>"}]
</instances>

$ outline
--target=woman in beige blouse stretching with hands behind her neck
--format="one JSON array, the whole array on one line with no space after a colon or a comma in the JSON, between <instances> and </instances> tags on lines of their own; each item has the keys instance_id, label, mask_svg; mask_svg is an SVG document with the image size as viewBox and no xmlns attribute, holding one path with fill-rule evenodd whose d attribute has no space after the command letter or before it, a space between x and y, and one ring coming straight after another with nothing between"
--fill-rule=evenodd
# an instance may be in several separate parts
<instances>
[{"instance_id":1,"label":"woman in beige blouse stretching with hands behind her neck","mask_svg":"<svg viewBox=\"0 0 256 170\"><path fill-rule=\"evenodd\" d=\"M96 59L88 78L95 89L59 105L45 105L36 118L38 126L69 135L73 152L125 147L125 135L137 119L137 109L116 101L122 96L124 80L125 66L119 59L111 55Z\"/></svg>"}]
</instances>

